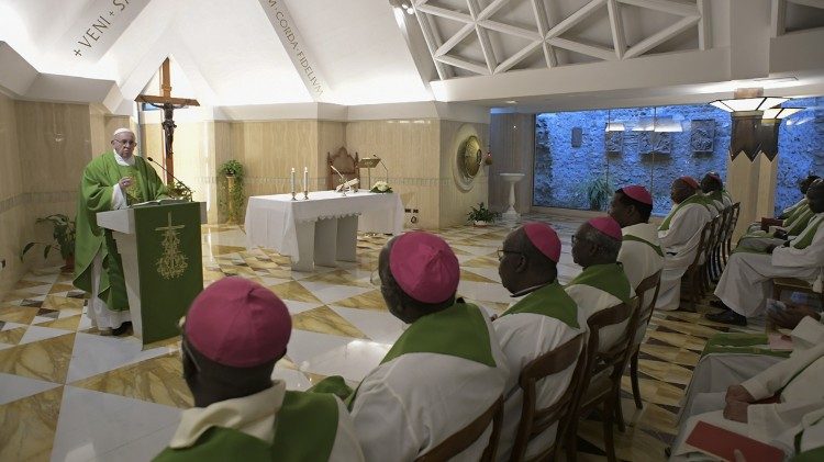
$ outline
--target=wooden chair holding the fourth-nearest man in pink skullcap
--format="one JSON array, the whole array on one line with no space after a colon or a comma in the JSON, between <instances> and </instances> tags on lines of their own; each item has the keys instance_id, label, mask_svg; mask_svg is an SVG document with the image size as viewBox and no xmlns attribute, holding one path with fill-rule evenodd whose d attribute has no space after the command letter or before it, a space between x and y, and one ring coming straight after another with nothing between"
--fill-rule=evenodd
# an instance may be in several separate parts
<instances>
[{"instance_id":1,"label":"wooden chair holding the fourth-nearest man in pink skullcap","mask_svg":"<svg viewBox=\"0 0 824 462\"><path fill-rule=\"evenodd\" d=\"M581 379L581 385L576 391L572 412L567 429L566 454L568 462L577 460L576 438L578 437L578 420L599 405L603 406L603 432L606 446L606 460L615 462L615 439L612 426L617 410L615 405L621 396L621 375L630 359L630 345L635 338L637 328L638 297L630 303L622 303L602 309L587 320L589 339L587 339L587 356ZM612 348L605 352L599 351L601 329L628 320L624 335Z\"/></svg>"}]
</instances>

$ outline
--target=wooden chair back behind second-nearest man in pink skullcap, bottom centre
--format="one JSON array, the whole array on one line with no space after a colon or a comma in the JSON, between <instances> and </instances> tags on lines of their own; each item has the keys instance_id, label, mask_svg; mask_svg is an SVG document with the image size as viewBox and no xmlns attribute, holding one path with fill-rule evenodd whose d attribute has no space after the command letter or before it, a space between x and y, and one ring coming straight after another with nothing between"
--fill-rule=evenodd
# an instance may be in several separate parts
<instances>
[{"instance_id":1,"label":"wooden chair back behind second-nearest man in pink skullcap, bottom centre","mask_svg":"<svg viewBox=\"0 0 824 462\"><path fill-rule=\"evenodd\" d=\"M492 433L489 436L489 443L480 458L481 462L494 460L498 450L498 439L501 436L501 421L503 420L503 396L500 396L483 414L469 425L453 433L441 444L431 449L425 454L415 459L416 462L441 462L447 461L455 455L464 452L465 449L472 446L492 424Z\"/></svg>"}]
</instances>

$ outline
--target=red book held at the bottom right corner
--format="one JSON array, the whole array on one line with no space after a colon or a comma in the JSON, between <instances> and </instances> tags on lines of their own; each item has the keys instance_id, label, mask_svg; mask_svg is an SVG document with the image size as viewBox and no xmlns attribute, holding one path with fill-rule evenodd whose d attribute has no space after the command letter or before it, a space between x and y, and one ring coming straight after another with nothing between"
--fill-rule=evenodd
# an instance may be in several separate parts
<instances>
[{"instance_id":1,"label":"red book held at the bottom right corner","mask_svg":"<svg viewBox=\"0 0 824 462\"><path fill-rule=\"evenodd\" d=\"M687 438L687 444L698 448L709 454L734 461L734 450L739 450L747 461L781 462L784 452L780 449L756 441L751 438L699 421Z\"/></svg>"}]
</instances>

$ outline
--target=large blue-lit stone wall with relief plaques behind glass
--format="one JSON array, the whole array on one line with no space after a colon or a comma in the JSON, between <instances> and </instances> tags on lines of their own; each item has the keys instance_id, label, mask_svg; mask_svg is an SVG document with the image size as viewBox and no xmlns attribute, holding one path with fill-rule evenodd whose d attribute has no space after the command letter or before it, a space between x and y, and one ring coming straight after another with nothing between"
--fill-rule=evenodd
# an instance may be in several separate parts
<instances>
[{"instance_id":1,"label":"large blue-lit stone wall with relief plaques behind glass","mask_svg":"<svg viewBox=\"0 0 824 462\"><path fill-rule=\"evenodd\" d=\"M623 148L606 154L606 122L623 123ZM669 132L668 154L643 153L643 136L650 132L653 119L660 129ZM692 121L702 121L695 124ZM710 121L710 122L708 122ZM712 125L712 150L694 151L693 128ZM534 204L537 206L588 210L586 185L598 178L608 178L614 187L643 184L655 200L654 213L670 209L669 188L673 179L690 174L700 179L710 170L726 178L730 149L730 114L709 104L626 108L537 114L535 120ZM580 128L580 146L574 146L572 131ZM636 128L636 131L633 131ZM658 136L658 135L656 135Z\"/></svg>"}]
</instances>

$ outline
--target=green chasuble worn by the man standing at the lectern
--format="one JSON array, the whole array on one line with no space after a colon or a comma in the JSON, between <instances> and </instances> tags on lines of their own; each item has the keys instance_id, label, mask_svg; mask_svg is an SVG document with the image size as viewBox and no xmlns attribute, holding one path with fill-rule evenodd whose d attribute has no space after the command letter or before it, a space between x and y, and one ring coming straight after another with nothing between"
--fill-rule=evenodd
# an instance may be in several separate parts
<instances>
[{"instance_id":1,"label":"green chasuble worn by the man standing at the lectern","mask_svg":"<svg viewBox=\"0 0 824 462\"><path fill-rule=\"evenodd\" d=\"M108 212L112 206L113 185L123 177L134 182L126 191L127 204L153 201L168 196L166 187L155 170L138 156L134 166L121 166L114 153L94 158L83 170L80 196L77 201L77 237L75 243L75 286L91 293L91 267L94 256L101 252L99 296L111 311L129 309L123 266L112 234L97 224L97 213Z\"/></svg>"}]
</instances>

